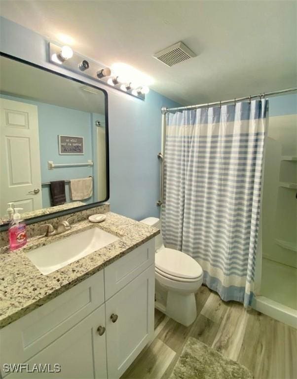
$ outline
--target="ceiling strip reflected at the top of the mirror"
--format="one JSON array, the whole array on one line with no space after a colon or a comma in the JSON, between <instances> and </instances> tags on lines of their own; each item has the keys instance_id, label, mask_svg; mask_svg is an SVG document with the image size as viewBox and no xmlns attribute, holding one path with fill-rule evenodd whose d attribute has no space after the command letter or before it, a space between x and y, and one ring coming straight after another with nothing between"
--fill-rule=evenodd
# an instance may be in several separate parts
<instances>
[{"instance_id":1,"label":"ceiling strip reflected at the top of the mirror","mask_svg":"<svg viewBox=\"0 0 297 379\"><path fill-rule=\"evenodd\" d=\"M0 57L0 78L0 93L88 113L105 114L105 96L101 90L65 77Z\"/></svg>"}]
</instances>

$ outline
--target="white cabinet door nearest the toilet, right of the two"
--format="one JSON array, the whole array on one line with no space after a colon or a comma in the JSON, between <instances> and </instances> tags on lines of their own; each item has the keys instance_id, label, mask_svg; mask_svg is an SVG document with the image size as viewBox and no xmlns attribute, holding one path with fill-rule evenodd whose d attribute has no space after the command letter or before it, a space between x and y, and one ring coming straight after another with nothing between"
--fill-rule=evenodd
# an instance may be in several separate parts
<instances>
[{"instance_id":1,"label":"white cabinet door nearest the toilet, right of the two","mask_svg":"<svg viewBox=\"0 0 297 379\"><path fill-rule=\"evenodd\" d=\"M106 302L109 379L119 378L153 338L153 323L154 265L151 265Z\"/></svg>"}]
</instances>

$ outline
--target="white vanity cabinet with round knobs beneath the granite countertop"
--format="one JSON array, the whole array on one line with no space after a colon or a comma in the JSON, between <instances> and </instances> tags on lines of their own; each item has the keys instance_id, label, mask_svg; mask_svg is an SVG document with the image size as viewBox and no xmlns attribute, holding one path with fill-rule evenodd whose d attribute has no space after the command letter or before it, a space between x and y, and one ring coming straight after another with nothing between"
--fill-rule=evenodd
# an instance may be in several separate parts
<instances>
[{"instance_id":1,"label":"white vanity cabinet with round knobs beneath the granite countertop","mask_svg":"<svg viewBox=\"0 0 297 379\"><path fill-rule=\"evenodd\" d=\"M0 330L0 374L118 379L153 337L154 239ZM8 374L3 364L60 364ZM49 367L49 366L48 366ZM0 377L1 377L0 375Z\"/></svg>"}]
</instances>

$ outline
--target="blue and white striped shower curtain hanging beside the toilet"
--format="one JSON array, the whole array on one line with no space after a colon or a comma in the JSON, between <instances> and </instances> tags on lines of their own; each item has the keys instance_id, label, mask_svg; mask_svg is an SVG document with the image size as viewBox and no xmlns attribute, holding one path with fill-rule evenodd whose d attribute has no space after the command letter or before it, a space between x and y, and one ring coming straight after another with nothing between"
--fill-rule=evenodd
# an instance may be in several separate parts
<instances>
[{"instance_id":1,"label":"blue and white striped shower curtain hanging beside the toilet","mask_svg":"<svg viewBox=\"0 0 297 379\"><path fill-rule=\"evenodd\" d=\"M268 101L167 114L162 233L225 301L253 297Z\"/></svg>"}]
</instances>

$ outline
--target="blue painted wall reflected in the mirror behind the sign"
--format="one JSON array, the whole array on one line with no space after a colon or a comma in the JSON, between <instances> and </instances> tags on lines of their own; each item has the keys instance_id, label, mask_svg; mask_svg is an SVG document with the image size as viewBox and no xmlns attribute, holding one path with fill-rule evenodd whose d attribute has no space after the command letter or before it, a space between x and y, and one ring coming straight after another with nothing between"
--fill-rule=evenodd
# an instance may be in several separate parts
<instances>
[{"instance_id":1,"label":"blue painted wall reflected in the mirror behind the sign","mask_svg":"<svg viewBox=\"0 0 297 379\"><path fill-rule=\"evenodd\" d=\"M57 107L51 104L40 103L29 99L1 95L5 99L34 104L38 112L39 149L41 182L54 180L69 180L94 176L93 167L61 167L48 170L47 161L54 163L83 163L88 159L97 161L97 149L94 152L92 141L93 114L77 111L70 108ZM102 115L101 115L102 117ZM99 115L97 115L99 118ZM96 119L97 119L96 118ZM78 136L84 138L83 155L60 155L58 148L58 135ZM69 184L66 184L66 200L70 202ZM97 194L97 181L94 181L94 194ZM94 202L95 196L82 200L85 203ZM49 186L42 186L42 207L51 206Z\"/></svg>"}]
</instances>

